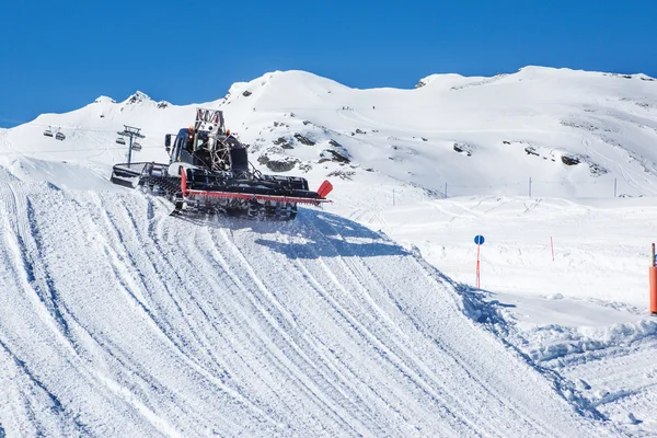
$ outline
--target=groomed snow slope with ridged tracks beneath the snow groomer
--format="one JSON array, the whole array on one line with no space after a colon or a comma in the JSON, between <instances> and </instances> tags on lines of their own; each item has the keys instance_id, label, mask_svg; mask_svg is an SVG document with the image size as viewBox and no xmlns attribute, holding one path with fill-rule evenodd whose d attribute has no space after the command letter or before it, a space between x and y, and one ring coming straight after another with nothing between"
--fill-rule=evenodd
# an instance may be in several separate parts
<instances>
[{"instance_id":1,"label":"groomed snow slope with ridged tracks beneath the snow groomer","mask_svg":"<svg viewBox=\"0 0 657 438\"><path fill-rule=\"evenodd\" d=\"M347 219L198 224L138 193L25 182L0 183L0 206L9 436L612 431Z\"/></svg>"}]
</instances>

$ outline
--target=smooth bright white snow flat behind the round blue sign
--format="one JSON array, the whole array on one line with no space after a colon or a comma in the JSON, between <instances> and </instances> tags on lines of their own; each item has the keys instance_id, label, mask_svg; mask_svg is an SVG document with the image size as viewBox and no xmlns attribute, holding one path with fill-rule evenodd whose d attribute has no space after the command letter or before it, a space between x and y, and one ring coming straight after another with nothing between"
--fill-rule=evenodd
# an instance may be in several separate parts
<instances>
[{"instance_id":1,"label":"smooth bright white snow flat behind the round blue sign","mask_svg":"<svg viewBox=\"0 0 657 438\"><path fill-rule=\"evenodd\" d=\"M483 234L487 290L618 300L647 310L649 237L657 229L657 207L648 197L448 198L389 207L364 220L417 245L459 281L474 280L473 239Z\"/></svg>"}]
</instances>

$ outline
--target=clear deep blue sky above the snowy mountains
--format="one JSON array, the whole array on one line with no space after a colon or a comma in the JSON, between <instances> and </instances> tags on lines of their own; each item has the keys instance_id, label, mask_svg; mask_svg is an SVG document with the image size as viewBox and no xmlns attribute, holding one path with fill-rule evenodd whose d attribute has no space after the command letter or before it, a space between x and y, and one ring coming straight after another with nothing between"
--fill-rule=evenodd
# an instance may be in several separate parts
<instances>
[{"instance_id":1,"label":"clear deep blue sky above the snowy mountains","mask_svg":"<svg viewBox=\"0 0 657 438\"><path fill-rule=\"evenodd\" d=\"M657 0L8 0L0 18L0 127L136 90L220 99L273 70L357 88L527 65L657 77Z\"/></svg>"}]
</instances>

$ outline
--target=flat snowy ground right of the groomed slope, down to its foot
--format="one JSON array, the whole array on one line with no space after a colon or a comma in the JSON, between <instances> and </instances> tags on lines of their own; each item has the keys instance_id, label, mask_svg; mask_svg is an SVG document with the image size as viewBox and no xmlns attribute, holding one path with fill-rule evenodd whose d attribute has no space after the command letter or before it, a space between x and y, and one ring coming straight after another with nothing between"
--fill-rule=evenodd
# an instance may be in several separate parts
<instances>
[{"instance_id":1,"label":"flat snowy ground right of the groomed slope, down to its foot","mask_svg":"<svg viewBox=\"0 0 657 438\"><path fill-rule=\"evenodd\" d=\"M657 348L657 320L648 316L653 198L480 196L355 217L469 285L474 235L483 234L477 293L500 313L494 331L566 378L586 406L630 433L657 431L657 372L648 359Z\"/></svg>"}]
</instances>

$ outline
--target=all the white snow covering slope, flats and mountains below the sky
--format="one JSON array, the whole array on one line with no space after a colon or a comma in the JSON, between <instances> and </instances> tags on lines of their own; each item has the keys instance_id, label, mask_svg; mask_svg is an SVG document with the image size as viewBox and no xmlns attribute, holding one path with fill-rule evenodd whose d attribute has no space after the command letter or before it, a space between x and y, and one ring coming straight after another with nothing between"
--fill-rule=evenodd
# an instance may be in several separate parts
<instances>
[{"instance_id":1,"label":"all the white snow covering slope, flats and mountains below the sky","mask_svg":"<svg viewBox=\"0 0 657 438\"><path fill-rule=\"evenodd\" d=\"M420 83L276 71L0 130L0 431L656 435L656 81ZM196 107L223 110L263 172L328 177L334 204L207 222L107 181L124 125L146 135L135 160L162 162Z\"/></svg>"}]
</instances>

